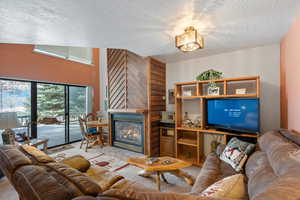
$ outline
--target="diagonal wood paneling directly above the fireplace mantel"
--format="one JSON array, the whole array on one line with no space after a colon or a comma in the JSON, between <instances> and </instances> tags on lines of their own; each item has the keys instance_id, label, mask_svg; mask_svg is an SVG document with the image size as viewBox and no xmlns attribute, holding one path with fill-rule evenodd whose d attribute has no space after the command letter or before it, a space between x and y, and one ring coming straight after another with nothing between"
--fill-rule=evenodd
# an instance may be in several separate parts
<instances>
[{"instance_id":1,"label":"diagonal wood paneling directly above the fireplace mantel","mask_svg":"<svg viewBox=\"0 0 300 200\"><path fill-rule=\"evenodd\" d=\"M110 109L147 109L147 62L123 49L107 50Z\"/></svg>"}]
</instances>

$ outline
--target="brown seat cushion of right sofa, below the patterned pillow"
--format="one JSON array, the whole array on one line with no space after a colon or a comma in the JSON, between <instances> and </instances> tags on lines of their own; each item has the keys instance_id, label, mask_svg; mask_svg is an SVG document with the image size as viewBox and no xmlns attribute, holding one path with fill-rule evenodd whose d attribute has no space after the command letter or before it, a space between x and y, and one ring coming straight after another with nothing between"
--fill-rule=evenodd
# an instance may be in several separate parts
<instances>
[{"instance_id":1,"label":"brown seat cushion of right sofa, below the patterned pillow","mask_svg":"<svg viewBox=\"0 0 300 200\"><path fill-rule=\"evenodd\" d=\"M217 154L207 156L202 169L192 187L191 194L199 194L208 186L237 172L227 163L221 161Z\"/></svg>"}]
</instances>

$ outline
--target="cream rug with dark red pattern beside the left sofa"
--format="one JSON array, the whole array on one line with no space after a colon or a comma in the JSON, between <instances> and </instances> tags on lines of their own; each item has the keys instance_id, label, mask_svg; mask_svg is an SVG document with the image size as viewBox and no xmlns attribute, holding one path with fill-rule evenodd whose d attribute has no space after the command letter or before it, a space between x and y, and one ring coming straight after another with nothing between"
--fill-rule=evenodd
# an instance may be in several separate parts
<instances>
[{"instance_id":1,"label":"cream rug with dark red pattern beside the left sofa","mask_svg":"<svg viewBox=\"0 0 300 200\"><path fill-rule=\"evenodd\" d=\"M129 165L127 162L125 162L123 160L114 158L112 156L105 155L104 153L99 154L88 160L90 161L90 163L92 165L103 167L111 172L119 171Z\"/></svg>"}]
</instances>

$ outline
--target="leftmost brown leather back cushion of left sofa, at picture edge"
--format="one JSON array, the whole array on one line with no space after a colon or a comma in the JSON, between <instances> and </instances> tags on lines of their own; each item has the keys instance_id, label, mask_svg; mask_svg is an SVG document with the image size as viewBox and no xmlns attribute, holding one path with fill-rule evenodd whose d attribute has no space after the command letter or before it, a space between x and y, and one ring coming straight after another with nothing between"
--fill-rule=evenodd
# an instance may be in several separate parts
<instances>
[{"instance_id":1,"label":"leftmost brown leather back cushion of left sofa, at picture edge","mask_svg":"<svg viewBox=\"0 0 300 200\"><path fill-rule=\"evenodd\" d=\"M0 166L2 172L11 179L12 173L20 166L32 164L15 146L5 145L0 146Z\"/></svg>"}]
</instances>

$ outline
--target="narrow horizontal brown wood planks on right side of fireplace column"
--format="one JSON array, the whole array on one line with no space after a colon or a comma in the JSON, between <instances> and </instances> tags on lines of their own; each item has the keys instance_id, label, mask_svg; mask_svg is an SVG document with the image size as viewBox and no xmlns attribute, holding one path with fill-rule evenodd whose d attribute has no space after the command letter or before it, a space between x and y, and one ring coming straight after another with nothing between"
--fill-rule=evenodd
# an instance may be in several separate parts
<instances>
[{"instance_id":1,"label":"narrow horizontal brown wood planks on right side of fireplace column","mask_svg":"<svg viewBox=\"0 0 300 200\"><path fill-rule=\"evenodd\" d=\"M159 156L160 112L166 110L166 64L148 58L148 149L150 156Z\"/></svg>"}]
</instances>

